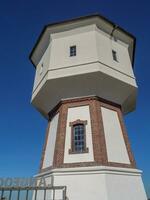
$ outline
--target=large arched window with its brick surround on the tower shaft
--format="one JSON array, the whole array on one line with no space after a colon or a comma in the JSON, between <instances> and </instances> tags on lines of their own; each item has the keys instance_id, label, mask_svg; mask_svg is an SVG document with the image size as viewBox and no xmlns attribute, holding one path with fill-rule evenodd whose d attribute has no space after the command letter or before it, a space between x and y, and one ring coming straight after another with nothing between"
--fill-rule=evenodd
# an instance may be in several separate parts
<instances>
[{"instance_id":1,"label":"large arched window with its brick surround on the tower shaft","mask_svg":"<svg viewBox=\"0 0 150 200\"><path fill-rule=\"evenodd\" d=\"M69 153L87 153L86 127L87 121L77 120L70 123L71 126L71 149Z\"/></svg>"}]
</instances>

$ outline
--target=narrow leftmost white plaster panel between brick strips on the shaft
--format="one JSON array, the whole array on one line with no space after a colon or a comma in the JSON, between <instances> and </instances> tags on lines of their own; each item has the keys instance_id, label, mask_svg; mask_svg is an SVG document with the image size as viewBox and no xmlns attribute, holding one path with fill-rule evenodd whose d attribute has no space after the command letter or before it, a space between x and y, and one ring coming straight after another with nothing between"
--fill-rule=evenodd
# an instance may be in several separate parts
<instances>
[{"instance_id":1,"label":"narrow leftmost white plaster panel between brick strips on the shaft","mask_svg":"<svg viewBox=\"0 0 150 200\"><path fill-rule=\"evenodd\" d=\"M59 119L59 114L55 115L55 117L52 119L50 123L45 156L43 160L43 168L50 167L53 164L58 119Z\"/></svg>"}]
</instances>

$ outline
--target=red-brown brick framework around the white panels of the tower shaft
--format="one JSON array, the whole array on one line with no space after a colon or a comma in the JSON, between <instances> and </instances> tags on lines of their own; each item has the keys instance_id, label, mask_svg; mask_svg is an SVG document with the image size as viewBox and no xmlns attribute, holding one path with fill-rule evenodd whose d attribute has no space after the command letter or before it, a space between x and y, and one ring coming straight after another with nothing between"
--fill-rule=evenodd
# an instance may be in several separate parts
<instances>
[{"instance_id":1,"label":"red-brown brick framework around the white panels of the tower shaft","mask_svg":"<svg viewBox=\"0 0 150 200\"><path fill-rule=\"evenodd\" d=\"M79 106L85 106L85 105L88 105L90 109L94 162L64 163L64 149L65 149L68 109L71 107L79 107ZM125 145L127 148L129 159L130 159L130 164L108 162L101 107L112 109L118 113L120 125L122 128L123 138L124 138ZM55 144L53 166L42 169L42 166L43 166L42 164L40 172L47 171L53 168L85 167L85 166L97 166L97 165L136 168L135 160L134 160L130 143L128 140L128 136L125 130L120 105L101 99L99 97L87 97L87 98L78 98L78 99L76 98L76 99L61 101L53 109L53 111L49 113L49 116L52 117L57 112L59 112L59 121L58 121L58 128L57 128L57 137L56 137L56 144ZM43 151L42 163L43 163L45 148Z\"/></svg>"}]
</instances>

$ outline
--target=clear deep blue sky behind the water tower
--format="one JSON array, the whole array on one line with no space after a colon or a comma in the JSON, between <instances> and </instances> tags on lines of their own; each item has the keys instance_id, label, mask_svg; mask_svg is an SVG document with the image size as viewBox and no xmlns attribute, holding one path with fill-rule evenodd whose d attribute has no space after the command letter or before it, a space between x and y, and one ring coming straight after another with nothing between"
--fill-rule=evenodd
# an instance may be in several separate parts
<instances>
[{"instance_id":1,"label":"clear deep blue sky behind the water tower","mask_svg":"<svg viewBox=\"0 0 150 200\"><path fill-rule=\"evenodd\" d=\"M35 69L28 55L41 29L47 23L95 12L137 37L137 109L125 121L150 193L149 0L1 0L0 177L32 176L39 167L47 122L30 105Z\"/></svg>"}]
</instances>

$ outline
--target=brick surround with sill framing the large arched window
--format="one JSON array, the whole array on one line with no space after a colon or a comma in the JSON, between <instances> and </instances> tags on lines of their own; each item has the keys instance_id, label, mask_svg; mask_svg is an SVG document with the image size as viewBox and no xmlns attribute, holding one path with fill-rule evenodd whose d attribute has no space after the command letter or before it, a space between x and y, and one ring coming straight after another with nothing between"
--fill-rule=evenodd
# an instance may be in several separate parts
<instances>
[{"instance_id":1,"label":"brick surround with sill framing the large arched window","mask_svg":"<svg viewBox=\"0 0 150 200\"><path fill-rule=\"evenodd\" d=\"M84 150L83 151L75 151L75 140L74 140L74 126L77 125L83 125L84 127ZM69 154L82 154L82 153L88 153L89 148L86 146L86 125L87 120L76 120L69 123L69 126L71 127L71 149L69 149Z\"/></svg>"}]
</instances>

